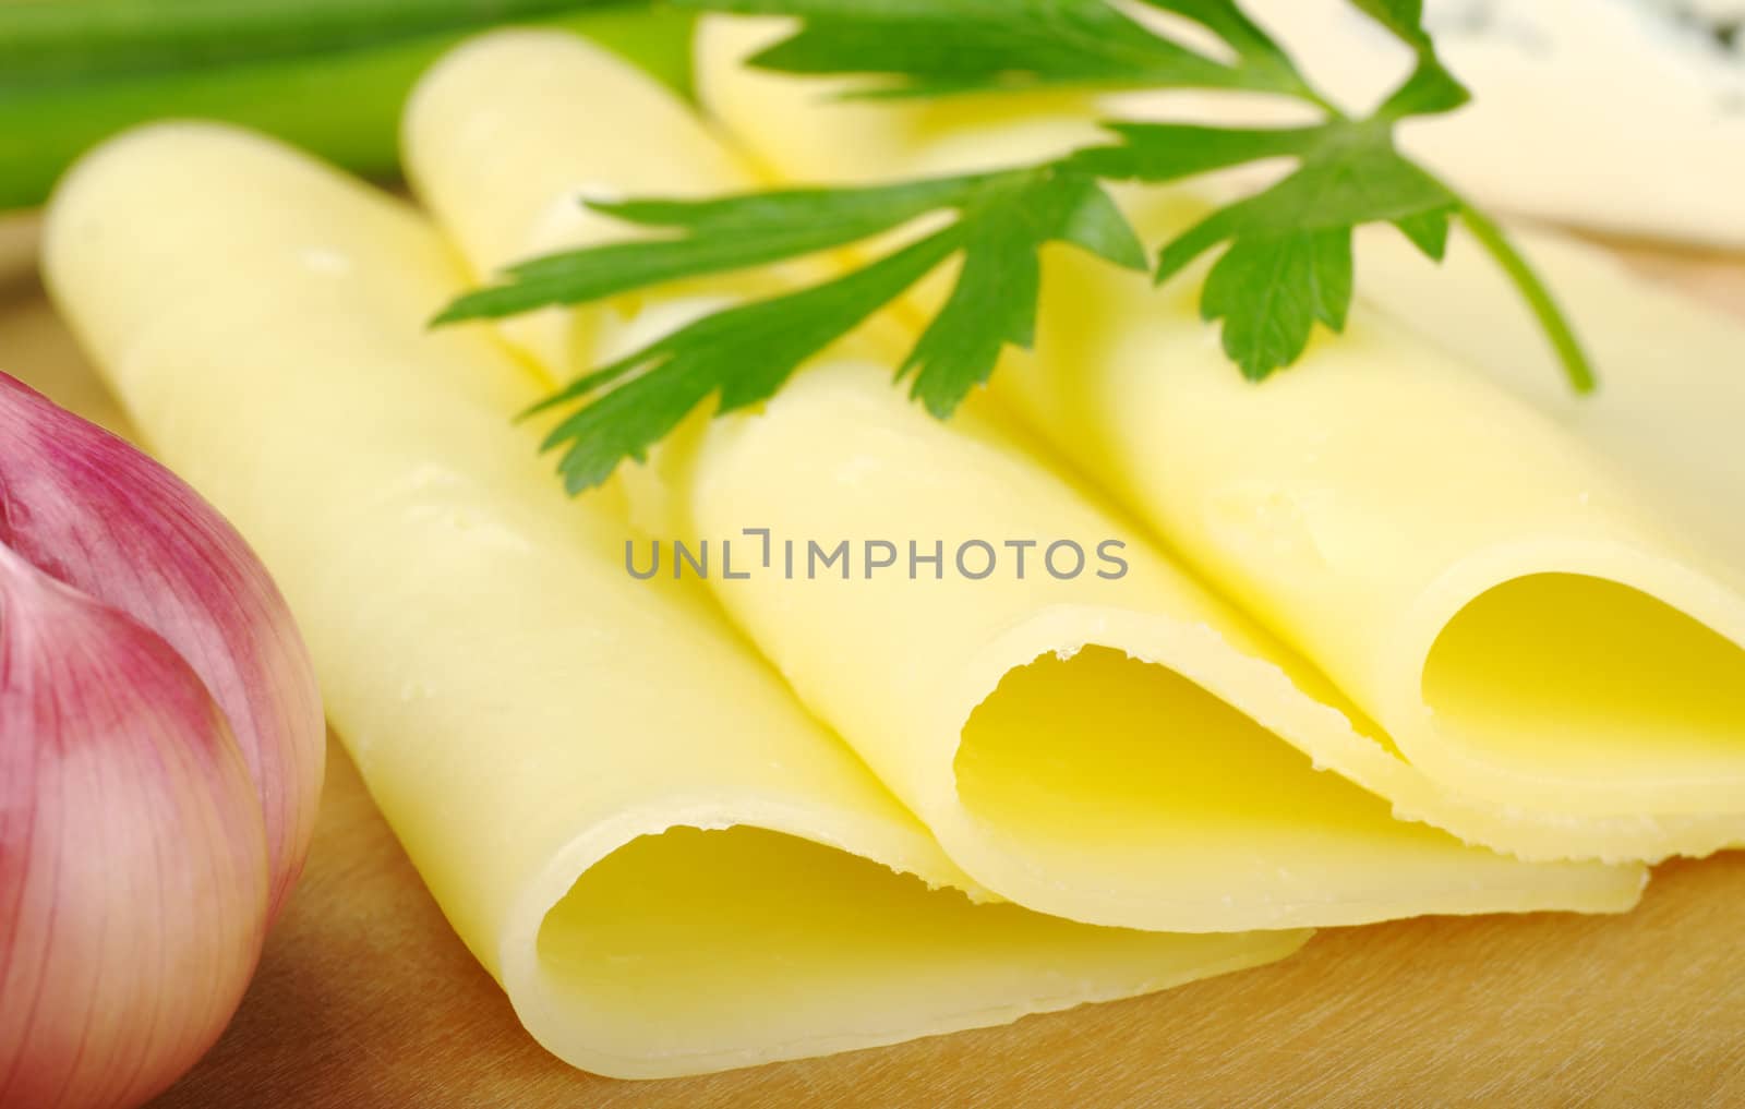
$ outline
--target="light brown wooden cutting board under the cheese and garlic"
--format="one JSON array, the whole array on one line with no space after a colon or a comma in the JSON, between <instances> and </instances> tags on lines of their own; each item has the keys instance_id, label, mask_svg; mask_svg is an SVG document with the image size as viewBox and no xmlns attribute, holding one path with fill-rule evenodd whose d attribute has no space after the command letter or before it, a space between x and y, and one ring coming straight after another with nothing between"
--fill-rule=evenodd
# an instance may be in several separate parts
<instances>
[{"instance_id":1,"label":"light brown wooden cutting board under the cheese and garlic","mask_svg":"<svg viewBox=\"0 0 1745 1109\"><path fill-rule=\"evenodd\" d=\"M28 241L28 228L0 225L0 370L124 429L42 300L23 262ZM1745 262L1626 253L1745 312ZM1745 854L1661 867L1623 917L1335 929L1286 963L1153 997L834 1058L623 1083L572 1071L522 1032L333 745L309 872L260 975L223 1041L157 1102L257 1106L1738 1107Z\"/></svg>"}]
</instances>

